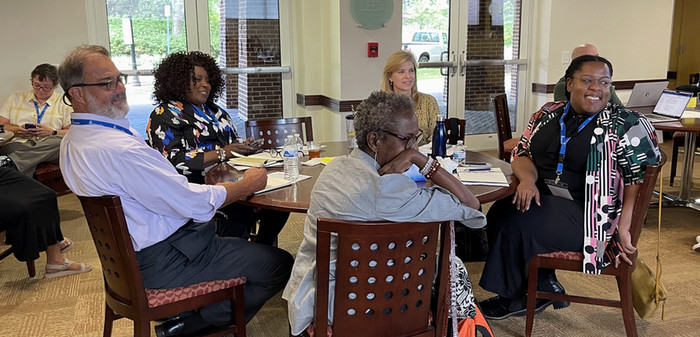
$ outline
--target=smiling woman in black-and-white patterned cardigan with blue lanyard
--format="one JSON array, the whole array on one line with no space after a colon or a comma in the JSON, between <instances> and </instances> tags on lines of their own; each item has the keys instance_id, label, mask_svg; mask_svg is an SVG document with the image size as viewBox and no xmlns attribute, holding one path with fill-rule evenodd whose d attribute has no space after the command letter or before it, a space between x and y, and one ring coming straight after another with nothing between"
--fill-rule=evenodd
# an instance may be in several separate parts
<instances>
[{"instance_id":1,"label":"smiling woman in black-and-white patterned cardigan with blue lanyard","mask_svg":"<svg viewBox=\"0 0 700 337\"><path fill-rule=\"evenodd\" d=\"M524 315L528 262L537 254L580 251L583 272L599 274L633 253L634 199L646 165L658 163L654 127L609 103L612 64L574 59L566 70L569 102L548 103L530 119L511 161L512 199L488 213L489 255L479 285L498 294L480 302L486 318ZM624 252L624 253L623 253ZM538 290L563 293L552 270L540 269ZM538 300L537 312L568 302Z\"/></svg>"}]
</instances>

